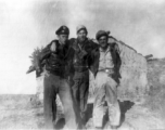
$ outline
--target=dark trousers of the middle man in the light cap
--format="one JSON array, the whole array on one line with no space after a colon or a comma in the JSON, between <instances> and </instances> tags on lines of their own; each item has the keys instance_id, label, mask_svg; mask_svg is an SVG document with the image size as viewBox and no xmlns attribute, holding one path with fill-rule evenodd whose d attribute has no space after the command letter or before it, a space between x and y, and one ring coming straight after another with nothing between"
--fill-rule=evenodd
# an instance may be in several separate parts
<instances>
[{"instance_id":1,"label":"dark trousers of the middle man in the light cap","mask_svg":"<svg viewBox=\"0 0 165 130\"><path fill-rule=\"evenodd\" d=\"M75 73L74 84L72 87L73 95L78 105L79 114L82 122L86 119L85 112L87 109L88 90L89 90L89 70Z\"/></svg>"}]
</instances>

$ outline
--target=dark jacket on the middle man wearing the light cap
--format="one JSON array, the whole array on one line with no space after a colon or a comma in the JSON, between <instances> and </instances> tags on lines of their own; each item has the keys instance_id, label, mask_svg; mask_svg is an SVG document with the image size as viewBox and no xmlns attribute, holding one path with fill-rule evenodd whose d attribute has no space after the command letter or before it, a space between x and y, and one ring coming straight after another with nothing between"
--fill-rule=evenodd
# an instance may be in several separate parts
<instances>
[{"instance_id":1,"label":"dark jacket on the middle man wearing the light cap","mask_svg":"<svg viewBox=\"0 0 165 130\"><path fill-rule=\"evenodd\" d=\"M69 60L72 73L76 69L90 69L91 66L91 51L98 44L90 39L86 39L81 44L77 39L69 40Z\"/></svg>"}]
</instances>

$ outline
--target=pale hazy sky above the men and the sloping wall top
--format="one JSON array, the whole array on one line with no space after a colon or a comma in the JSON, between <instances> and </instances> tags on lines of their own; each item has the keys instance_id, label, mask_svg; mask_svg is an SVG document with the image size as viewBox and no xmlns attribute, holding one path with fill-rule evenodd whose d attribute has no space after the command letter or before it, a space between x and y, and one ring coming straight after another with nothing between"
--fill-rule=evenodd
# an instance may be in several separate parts
<instances>
[{"instance_id":1,"label":"pale hazy sky above the men and the sloping wall top","mask_svg":"<svg viewBox=\"0 0 165 130\"><path fill-rule=\"evenodd\" d=\"M76 37L79 24L90 38L110 30L143 55L165 57L165 0L0 0L0 93L35 93L28 56L61 25Z\"/></svg>"}]
</instances>

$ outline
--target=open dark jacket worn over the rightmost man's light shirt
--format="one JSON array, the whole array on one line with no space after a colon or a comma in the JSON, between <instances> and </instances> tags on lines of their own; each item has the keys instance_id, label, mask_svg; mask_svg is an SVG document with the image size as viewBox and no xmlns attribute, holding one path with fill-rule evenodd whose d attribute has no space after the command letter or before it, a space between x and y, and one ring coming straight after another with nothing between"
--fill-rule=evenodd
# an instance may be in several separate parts
<instances>
[{"instance_id":1,"label":"open dark jacket worn over the rightmost man's light shirt","mask_svg":"<svg viewBox=\"0 0 165 130\"><path fill-rule=\"evenodd\" d=\"M112 78L119 83L119 78L120 78L120 74L119 74L119 68L122 65L122 61L120 61L120 56L119 56L119 52L116 49L117 44L116 43L111 43L109 44L111 48L111 55L113 58L113 63L114 63L114 74L112 75ZM100 51L99 51L99 44L98 47L92 51L92 66L91 66L91 72L93 73L94 77L98 73L99 69L99 60L100 60Z\"/></svg>"}]
</instances>

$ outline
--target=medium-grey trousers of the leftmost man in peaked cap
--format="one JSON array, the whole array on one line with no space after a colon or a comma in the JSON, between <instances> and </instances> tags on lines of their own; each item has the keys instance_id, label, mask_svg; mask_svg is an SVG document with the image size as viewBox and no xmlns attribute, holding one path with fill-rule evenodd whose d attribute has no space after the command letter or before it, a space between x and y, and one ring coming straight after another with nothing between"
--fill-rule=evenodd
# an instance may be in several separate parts
<instances>
[{"instance_id":1,"label":"medium-grey trousers of the leftmost man in peaked cap","mask_svg":"<svg viewBox=\"0 0 165 130\"><path fill-rule=\"evenodd\" d=\"M46 128L53 129L53 122L56 118L55 99L56 94L59 94L64 108L65 128L77 129L72 91L66 79L46 72L43 86L43 116Z\"/></svg>"}]
</instances>

